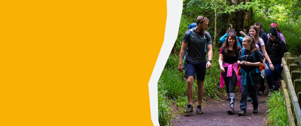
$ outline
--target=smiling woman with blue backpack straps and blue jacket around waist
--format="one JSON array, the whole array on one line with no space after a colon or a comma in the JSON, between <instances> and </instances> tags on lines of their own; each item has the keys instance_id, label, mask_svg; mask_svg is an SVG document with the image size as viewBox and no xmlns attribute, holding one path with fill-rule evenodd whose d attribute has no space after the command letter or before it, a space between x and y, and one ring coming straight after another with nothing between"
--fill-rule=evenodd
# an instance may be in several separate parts
<instances>
[{"instance_id":1,"label":"smiling woman with blue backpack straps and blue jacket around waist","mask_svg":"<svg viewBox=\"0 0 301 126\"><path fill-rule=\"evenodd\" d=\"M250 93L252 95L253 113L258 113L257 88L260 75L258 66L262 64L260 53L255 44L255 38L245 36L242 44L245 48L240 50L237 58L237 63L241 65L241 98L240 112L238 113L240 116L246 115L248 87L250 88Z\"/></svg>"}]
</instances>

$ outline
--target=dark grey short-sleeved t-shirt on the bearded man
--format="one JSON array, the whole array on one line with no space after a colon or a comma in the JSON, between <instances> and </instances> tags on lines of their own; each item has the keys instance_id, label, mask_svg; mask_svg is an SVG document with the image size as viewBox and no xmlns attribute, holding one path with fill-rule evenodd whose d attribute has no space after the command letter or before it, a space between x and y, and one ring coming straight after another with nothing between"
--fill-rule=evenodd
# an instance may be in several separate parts
<instances>
[{"instance_id":1,"label":"dark grey short-sleeved t-shirt on the bearded man","mask_svg":"<svg viewBox=\"0 0 301 126\"><path fill-rule=\"evenodd\" d=\"M197 32L195 28L193 28L191 34L194 37L191 37L190 31L187 30L183 38L184 42L188 42L187 59L194 62L206 62L207 56L205 52L205 37L207 45L212 44L211 35L207 31L205 32L206 35L201 32Z\"/></svg>"}]
</instances>

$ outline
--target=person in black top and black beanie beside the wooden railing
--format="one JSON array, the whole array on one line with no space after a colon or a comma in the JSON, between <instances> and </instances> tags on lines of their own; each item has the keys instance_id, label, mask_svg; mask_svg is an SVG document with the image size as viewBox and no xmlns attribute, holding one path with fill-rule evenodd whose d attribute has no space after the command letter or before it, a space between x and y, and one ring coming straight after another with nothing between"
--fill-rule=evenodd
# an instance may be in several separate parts
<instances>
[{"instance_id":1,"label":"person in black top and black beanie beside the wooden railing","mask_svg":"<svg viewBox=\"0 0 301 126\"><path fill-rule=\"evenodd\" d=\"M266 70L266 82L269 88L277 91L280 87L281 82L281 72L283 70L281 64L281 58L284 58L284 53L286 52L286 45L284 41L277 35L276 28L270 28L270 33L268 41L265 45L266 52L270 57L274 65L274 70ZM269 66L269 64L267 64Z\"/></svg>"}]
</instances>

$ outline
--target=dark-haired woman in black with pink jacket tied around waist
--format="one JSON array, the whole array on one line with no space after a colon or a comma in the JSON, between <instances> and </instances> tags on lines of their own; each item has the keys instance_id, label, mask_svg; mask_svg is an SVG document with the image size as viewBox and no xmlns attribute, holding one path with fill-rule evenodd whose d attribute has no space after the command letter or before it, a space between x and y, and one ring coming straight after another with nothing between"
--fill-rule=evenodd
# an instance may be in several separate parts
<instances>
[{"instance_id":1,"label":"dark-haired woman in black with pink jacket tied around waist","mask_svg":"<svg viewBox=\"0 0 301 126\"><path fill-rule=\"evenodd\" d=\"M222 45L219 54L219 65L221 68L220 86L226 84L227 95L229 100L229 109L227 113L234 114L235 87L240 85L240 76L238 71L238 52L240 47L237 45L235 33L229 33L225 43ZM224 62L224 63L223 63Z\"/></svg>"}]
</instances>

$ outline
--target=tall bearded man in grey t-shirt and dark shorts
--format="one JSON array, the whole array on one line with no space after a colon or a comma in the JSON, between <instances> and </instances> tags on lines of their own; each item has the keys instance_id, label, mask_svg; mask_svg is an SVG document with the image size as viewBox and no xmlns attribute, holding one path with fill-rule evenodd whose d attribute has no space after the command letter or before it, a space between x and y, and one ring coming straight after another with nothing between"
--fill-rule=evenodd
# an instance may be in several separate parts
<instances>
[{"instance_id":1,"label":"tall bearded man in grey t-shirt and dark shorts","mask_svg":"<svg viewBox=\"0 0 301 126\"><path fill-rule=\"evenodd\" d=\"M211 68L212 60L212 42L211 35L206 31L208 28L209 19L205 16L198 16L197 26L189 29L185 32L181 52L179 71L184 69L183 58L186 55L186 77L187 77L187 98L188 105L184 112L193 112L192 100L193 100L193 82L197 75L198 85L198 106L197 113L202 114L202 100L204 95L204 80L206 74L206 68ZM206 51L207 48L207 51ZM185 51L187 50L187 51ZM206 52L208 53L208 61Z\"/></svg>"}]
</instances>

